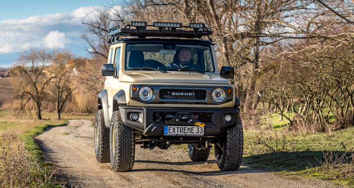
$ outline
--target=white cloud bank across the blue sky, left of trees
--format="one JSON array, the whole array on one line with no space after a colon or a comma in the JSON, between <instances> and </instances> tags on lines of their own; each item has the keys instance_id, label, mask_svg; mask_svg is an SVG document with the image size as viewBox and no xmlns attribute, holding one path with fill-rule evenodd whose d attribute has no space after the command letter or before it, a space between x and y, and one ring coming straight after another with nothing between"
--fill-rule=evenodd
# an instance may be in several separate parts
<instances>
[{"instance_id":1,"label":"white cloud bank across the blue sky, left of trees","mask_svg":"<svg viewBox=\"0 0 354 188\"><path fill-rule=\"evenodd\" d=\"M85 31L82 19L92 18L95 8L98 7L1 21L0 54L21 52L31 47L63 48L78 43L84 46L86 44L80 38Z\"/></svg>"}]
</instances>

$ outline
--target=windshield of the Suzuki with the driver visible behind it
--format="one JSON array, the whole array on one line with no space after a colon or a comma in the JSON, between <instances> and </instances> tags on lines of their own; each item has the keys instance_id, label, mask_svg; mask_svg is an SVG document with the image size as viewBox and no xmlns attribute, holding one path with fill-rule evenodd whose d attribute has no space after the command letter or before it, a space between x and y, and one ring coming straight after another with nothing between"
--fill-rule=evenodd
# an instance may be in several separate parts
<instances>
[{"instance_id":1,"label":"windshield of the Suzuki with the driver visible behind it","mask_svg":"<svg viewBox=\"0 0 354 188\"><path fill-rule=\"evenodd\" d=\"M214 72L210 50L210 45L200 43L127 43L126 70L150 67L151 70Z\"/></svg>"}]
</instances>

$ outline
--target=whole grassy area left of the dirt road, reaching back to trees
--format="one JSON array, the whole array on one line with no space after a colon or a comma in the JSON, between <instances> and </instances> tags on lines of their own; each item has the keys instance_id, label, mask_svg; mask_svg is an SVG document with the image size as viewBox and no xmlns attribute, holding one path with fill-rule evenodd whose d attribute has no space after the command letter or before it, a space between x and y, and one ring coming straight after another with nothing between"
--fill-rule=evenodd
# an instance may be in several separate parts
<instances>
[{"instance_id":1,"label":"whole grassy area left of the dirt road, reaching back to trees","mask_svg":"<svg viewBox=\"0 0 354 188\"><path fill-rule=\"evenodd\" d=\"M43 113L46 120L22 117L13 111L0 111L0 187L61 187L55 181L54 167L41 159L42 151L33 137L47 127L67 124L67 120L55 119L55 113ZM33 118L36 118L33 116ZM89 119L92 116L62 114L65 119Z\"/></svg>"}]
</instances>

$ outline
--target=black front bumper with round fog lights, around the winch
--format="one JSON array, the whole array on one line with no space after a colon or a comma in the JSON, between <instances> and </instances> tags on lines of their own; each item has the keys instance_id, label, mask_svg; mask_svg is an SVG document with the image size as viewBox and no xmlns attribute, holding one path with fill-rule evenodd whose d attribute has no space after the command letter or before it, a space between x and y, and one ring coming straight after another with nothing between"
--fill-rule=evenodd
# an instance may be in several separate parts
<instances>
[{"instance_id":1,"label":"black front bumper with round fog lights, around the winch","mask_svg":"<svg viewBox=\"0 0 354 188\"><path fill-rule=\"evenodd\" d=\"M131 107L131 106L119 106L119 111L122 116L122 121L125 125L132 127L138 131L142 131L143 135L149 138L180 138L181 136L165 136L163 133L164 126L167 122L156 122L153 119L153 115L156 112L164 113L209 113L210 121L204 122L204 136L183 136L189 138L213 138L220 135L220 133L227 131L228 129L237 125L240 115L240 108L157 108L157 107ZM137 113L139 119L133 121L131 115ZM231 122L225 120L226 115L231 115ZM171 125L170 122L168 122ZM185 122L176 122L176 126L192 126Z\"/></svg>"}]
</instances>

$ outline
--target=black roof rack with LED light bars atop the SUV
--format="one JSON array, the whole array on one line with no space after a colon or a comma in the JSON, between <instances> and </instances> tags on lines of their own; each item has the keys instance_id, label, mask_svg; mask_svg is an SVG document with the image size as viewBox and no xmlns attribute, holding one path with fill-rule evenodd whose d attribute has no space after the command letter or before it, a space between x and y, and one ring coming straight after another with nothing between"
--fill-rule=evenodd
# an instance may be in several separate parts
<instances>
[{"instance_id":1,"label":"black roof rack with LED light bars atop the SUV","mask_svg":"<svg viewBox=\"0 0 354 188\"><path fill-rule=\"evenodd\" d=\"M135 27L135 29L131 29ZM157 27L158 29L147 29L147 27ZM181 28L191 28L193 30L183 30ZM204 23L189 23L188 26L183 26L182 23L173 22L153 22L148 25L147 22L133 21L124 28L119 28L119 25L109 29L108 44L112 45L119 42L119 37L176 37L176 38L202 38L207 36L210 42L212 35L210 28L207 28Z\"/></svg>"}]
</instances>

